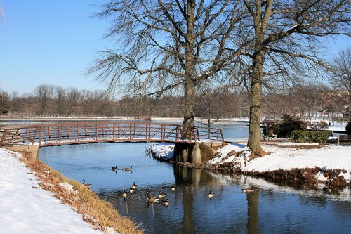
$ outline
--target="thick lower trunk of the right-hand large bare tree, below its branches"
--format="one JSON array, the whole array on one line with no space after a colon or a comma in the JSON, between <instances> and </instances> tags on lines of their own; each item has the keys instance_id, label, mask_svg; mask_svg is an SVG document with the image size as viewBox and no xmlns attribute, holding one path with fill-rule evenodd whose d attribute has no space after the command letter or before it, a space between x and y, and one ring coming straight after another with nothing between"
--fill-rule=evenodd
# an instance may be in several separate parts
<instances>
[{"instance_id":1,"label":"thick lower trunk of the right-hand large bare tree, below its branches","mask_svg":"<svg viewBox=\"0 0 351 234\"><path fill-rule=\"evenodd\" d=\"M263 51L253 60L253 75L250 100L249 141L247 145L254 154L263 152L260 146L260 108L262 103Z\"/></svg>"}]
</instances>

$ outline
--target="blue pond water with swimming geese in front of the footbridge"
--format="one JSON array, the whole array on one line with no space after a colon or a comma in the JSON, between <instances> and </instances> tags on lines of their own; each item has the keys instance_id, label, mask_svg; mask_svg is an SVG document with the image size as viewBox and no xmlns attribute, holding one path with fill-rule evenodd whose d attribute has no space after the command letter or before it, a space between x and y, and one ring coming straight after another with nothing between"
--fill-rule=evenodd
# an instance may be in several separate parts
<instances>
[{"instance_id":1,"label":"blue pond water with swimming geese in front of the footbridge","mask_svg":"<svg viewBox=\"0 0 351 234\"><path fill-rule=\"evenodd\" d=\"M241 130L240 130L241 129ZM225 137L247 137L244 124L227 125ZM246 134L246 135L245 135ZM323 185L271 183L159 162L149 143L102 143L46 147L39 158L92 190L129 216L145 233L351 233L350 188L324 193ZM117 165L119 170L112 171ZM132 171L122 171L133 166ZM138 189L117 196L135 182ZM176 191L170 187L176 185ZM256 186L255 193L241 189ZM147 203L146 192L166 193L168 208ZM213 191L215 197L208 199Z\"/></svg>"}]
</instances>

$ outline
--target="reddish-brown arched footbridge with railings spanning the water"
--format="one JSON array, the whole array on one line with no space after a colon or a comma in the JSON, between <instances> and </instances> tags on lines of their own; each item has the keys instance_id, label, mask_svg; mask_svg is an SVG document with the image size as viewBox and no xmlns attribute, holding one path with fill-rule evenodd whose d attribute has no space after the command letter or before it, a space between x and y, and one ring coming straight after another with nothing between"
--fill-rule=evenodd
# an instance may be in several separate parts
<instances>
[{"instance_id":1,"label":"reddish-brown arched footbridge with railings spanning the water","mask_svg":"<svg viewBox=\"0 0 351 234\"><path fill-rule=\"evenodd\" d=\"M65 122L4 129L4 145L72 145L107 142L223 142L222 129L154 122Z\"/></svg>"}]
</instances>

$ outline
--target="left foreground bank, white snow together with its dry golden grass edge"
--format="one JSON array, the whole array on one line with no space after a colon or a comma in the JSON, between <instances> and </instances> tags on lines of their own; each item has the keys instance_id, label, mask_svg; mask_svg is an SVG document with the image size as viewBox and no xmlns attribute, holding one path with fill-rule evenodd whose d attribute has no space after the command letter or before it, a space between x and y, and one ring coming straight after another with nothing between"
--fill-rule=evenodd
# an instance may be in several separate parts
<instances>
[{"instance_id":1,"label":"left foreground bank, white snow together with its dry golden grass edge","mask_svg":"<svg viewBox=\"0 0 351 234\"><path fill-rule=\"evenodd\" d=\"M100 199L79 181L70 180L44 162L34 160L29 152L5 148L0 148L0 152L4 160L0 172L4 176L2 182L5 183L2 192L0 189L3 194L0 207L6 204L2 207L4 214L27 226L30 233L38 228L38 233L70 233L70 230L74 233L143 233L142 227L121 216L112 204ZM10 168L11 171L7 171ZM11 192L11 188L18 186L24 191ZM12 198L13 195L17 198ZM13 206L21 207L20 214L13 214ZM27 218L28 212L34 212L30 219ZM57 219L52 217L48 220L51 216ZM71 222L73 216L74 222ZM19 233L13 232L12 228L16 227L8 226L7 233Z\"/></svg>"}]
</instances>

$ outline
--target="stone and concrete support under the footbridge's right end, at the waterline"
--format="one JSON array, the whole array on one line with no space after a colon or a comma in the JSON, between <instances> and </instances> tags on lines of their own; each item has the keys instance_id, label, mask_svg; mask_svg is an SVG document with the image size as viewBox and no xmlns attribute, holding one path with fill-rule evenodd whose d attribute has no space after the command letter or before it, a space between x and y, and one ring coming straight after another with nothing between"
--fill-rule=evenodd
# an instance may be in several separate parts
<instances>
[{"instance_id":1,"label":"stone and concrete support under the footbridge's right end, at the waterline","mask_svg":"<svg viewBox=\"0 0 351 234\"><path fill-rule=\"evenodd\" d=\"M215 153L216 150L206 145L206 143L176 143L174 147L176 162L201 164L211 160Z\"/></svg>"}]
</instances>

